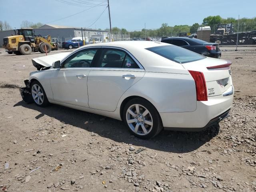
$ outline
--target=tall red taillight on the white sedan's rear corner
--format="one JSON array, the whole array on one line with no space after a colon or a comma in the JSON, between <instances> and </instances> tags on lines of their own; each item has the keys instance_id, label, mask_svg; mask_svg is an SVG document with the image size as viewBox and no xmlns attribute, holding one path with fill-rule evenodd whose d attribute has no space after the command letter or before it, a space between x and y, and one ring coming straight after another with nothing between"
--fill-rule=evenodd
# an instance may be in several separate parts
<instances>
[{"instance_id":1,"label":"tall red taillight on the white sedan's rear corner","mask_svg":"<svg viewBox=\"0 0 256 192\"><path fill-rule=\"evenodd\" d=\"M206 83L204 79L204 74L199 71L190 71L188 70L193 77L196 84L196 100L198 101L207 101L207 90Z\"/></svg>"}]
</instances>

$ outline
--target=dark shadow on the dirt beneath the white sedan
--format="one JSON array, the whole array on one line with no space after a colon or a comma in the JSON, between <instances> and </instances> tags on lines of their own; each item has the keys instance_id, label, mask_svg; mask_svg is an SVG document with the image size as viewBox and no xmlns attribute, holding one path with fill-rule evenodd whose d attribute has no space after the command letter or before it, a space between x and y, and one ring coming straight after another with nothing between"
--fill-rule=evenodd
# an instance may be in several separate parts
<instances>
[{"instance_id":1,"label":"dark shadow on the dirt beneath the white sedan","mask_svg":"<svg viewBox=\"0 0 256 192\"><path fill-rule=\"evenodd\" d=\"M134 138L127 130L123 122L103 116L66 108L64 106L50 105L46 108L40 108L35 104L26 104L20 101L14 105L36 110L41 114L34 118L44 118L44 115L56 118L60 122L69 124L83 130L94 132L102 137L109 138L116 142L124 142L146 148L173 152L186 153L198 149L206 142L218 135L219 125L216 124L201 132L178 132L162 131L158 136L150 140Z\"/></svg>"}]
</instances>

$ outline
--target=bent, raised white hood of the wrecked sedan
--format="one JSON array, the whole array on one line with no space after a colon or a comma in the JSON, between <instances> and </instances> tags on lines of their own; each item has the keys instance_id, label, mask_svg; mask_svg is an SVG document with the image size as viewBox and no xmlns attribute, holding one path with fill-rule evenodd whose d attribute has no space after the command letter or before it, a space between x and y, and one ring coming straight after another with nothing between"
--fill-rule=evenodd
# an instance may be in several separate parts
<instances>
[{"instance_id":1,"label":"bent, raised white hood of the wrecked sedan","mask_svg":"<svg viewBox=\"0 0 256 192\"><path fill-rule=\"evenodd\" d=\"M38 57L38 58L32 59L32 63L36 68L51 67L53 62L62 60L68 54L70 54L70 52Z\"/></svg>"}]
</instances>

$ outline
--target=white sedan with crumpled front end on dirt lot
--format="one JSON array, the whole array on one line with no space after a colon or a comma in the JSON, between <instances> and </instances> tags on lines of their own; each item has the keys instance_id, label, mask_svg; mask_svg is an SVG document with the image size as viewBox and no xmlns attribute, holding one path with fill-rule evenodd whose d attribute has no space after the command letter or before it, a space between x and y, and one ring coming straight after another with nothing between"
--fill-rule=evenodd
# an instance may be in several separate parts
<instances>
[{"instance_id":1,"label":"white sedan with crumpled front end on dirt lot","mask_svg":"<svg viewBox=\"0 0 256 192\"><path fill-rule=\"evenodd\" d=\"M25 102L123 120L139 138L202 130L232 106L230 62L161 42L90 44L32 63L38 70L20 88Z\"/></svg>"}]
</instances>

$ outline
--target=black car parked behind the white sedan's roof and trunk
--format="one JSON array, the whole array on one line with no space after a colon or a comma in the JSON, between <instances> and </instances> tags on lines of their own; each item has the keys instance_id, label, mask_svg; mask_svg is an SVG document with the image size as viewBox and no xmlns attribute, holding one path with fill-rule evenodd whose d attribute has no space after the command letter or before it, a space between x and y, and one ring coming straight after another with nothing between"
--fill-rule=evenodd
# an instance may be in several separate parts
<instances>
[{"instance_id":1,"label":"black car parked behind the white sedan's roof and trunk","mask_svg":"<svg viewBox=\"0 0 256 192\"><path fill-rule=\"evenodd\" d=\"M166 38L166 39L162 39L161 42L180 46L182 48L194 51L196 53L199 53L207 57L213 57L213 58L221 57L219 44L216 44L216 43L209 43L200 39L188 38L188 37Z\"/></svg>"}]
</instances>

